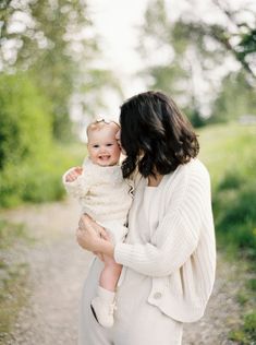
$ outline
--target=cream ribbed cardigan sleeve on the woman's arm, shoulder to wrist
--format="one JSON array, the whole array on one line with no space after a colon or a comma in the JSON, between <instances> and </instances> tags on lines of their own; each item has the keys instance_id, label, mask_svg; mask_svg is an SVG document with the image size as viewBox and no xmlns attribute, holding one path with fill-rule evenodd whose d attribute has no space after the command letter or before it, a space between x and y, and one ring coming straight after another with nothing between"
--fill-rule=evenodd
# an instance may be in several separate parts
<instances>
[{"instance_id":1,"label":"cream ribbed cardigan sleeve on the woman's arm, shoulder to wrist","mask_svg":"<svg viewBox=\"0 0 256 345\"><path fill-rule=\"evenodd\" d=\"M167 207L156 230L156 245L117 243L114 260L141 274L161 277L179 270L195 251L202 230L209 179L190 177L182 197ZM185 183L185 182L184 182Z\"/></svg>"}]
</instances>

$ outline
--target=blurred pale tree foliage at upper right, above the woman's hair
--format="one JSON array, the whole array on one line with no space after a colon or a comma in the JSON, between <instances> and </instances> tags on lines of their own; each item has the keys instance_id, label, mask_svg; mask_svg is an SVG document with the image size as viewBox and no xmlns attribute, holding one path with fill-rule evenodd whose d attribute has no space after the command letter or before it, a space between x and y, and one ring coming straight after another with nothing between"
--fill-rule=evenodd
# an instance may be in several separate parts
<instances>
[{"instance_id":1,"label":"blurred pale tree foliage at upper right, above the woman's hair","mask_svg":"<svg viewBox=\"0 0 256 345\"><path fill-rule=\"evenodd\" d=\"M231 4L212 0L209 3L212 13L225 17L227 23L232 23L229 26L199 17L196 3L194 11L184 11L173 20L172 14L168 15L173 5L164 0L151 0L145 13L138 51L145 61L142 74L148 87L162 90L176 99L197 128L254 114L256 22L253 10L246 9L251 22L245 24L242 20L245 8L233 11ZM240 70L225 76L217 87L216 82L221 79L219 67L228 59L239 61ZM205 94L200 84L207 87ZM208 121L204 115L209 117Z\"/></svg>"}]
</instances>

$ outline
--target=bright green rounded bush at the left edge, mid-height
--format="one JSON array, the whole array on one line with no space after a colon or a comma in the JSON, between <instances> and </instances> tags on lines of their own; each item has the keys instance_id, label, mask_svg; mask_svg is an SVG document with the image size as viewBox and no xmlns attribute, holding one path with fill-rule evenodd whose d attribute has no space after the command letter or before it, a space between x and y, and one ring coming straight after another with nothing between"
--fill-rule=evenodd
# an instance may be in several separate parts
<instances>
[{"instance_id":1,"label":"bright green rounded bush at the left edge, mid-height","mask_svg":"<svg viewBox=\"0 0 256 345\"><path fill-rule=\"evenodd\" d=\"M44 135L42 135L44 133ZM51 141L47 99L28 75L0 76L0 169L40 154Z\"/></svg>"}]
</instances>

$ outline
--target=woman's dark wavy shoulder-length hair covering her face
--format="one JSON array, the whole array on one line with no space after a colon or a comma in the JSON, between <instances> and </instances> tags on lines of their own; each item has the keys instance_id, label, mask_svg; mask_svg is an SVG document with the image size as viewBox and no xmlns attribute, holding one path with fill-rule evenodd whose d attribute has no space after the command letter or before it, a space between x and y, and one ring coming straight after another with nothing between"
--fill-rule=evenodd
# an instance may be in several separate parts
<instances>
[{"instance_id":1,"label":"woman's dark wavy shoulder-length hair covering her face","mask_svg":"<svg viewBox=\"0 0 256 345\"><path fill-rule=\"evenodd\" d=\"M123 177L136 166L144 176L169 174L196 157L199 144L190 121L161 92L138 94L121 106L121 144L126 153Z\"/></svg>"}]
</instances>

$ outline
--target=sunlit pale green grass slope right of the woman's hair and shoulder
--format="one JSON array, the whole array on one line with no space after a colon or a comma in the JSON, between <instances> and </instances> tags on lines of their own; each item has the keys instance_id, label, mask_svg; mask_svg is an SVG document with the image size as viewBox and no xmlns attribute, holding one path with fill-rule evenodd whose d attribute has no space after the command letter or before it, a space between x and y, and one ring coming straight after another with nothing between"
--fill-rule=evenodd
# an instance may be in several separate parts
<instances>
[{"instance_id":1,"label":"sunlit pale green grass slope right of the woman's hair and shoulder","mask_svg":"<svg viewBox=\"0 0 256 345\"><path fill-rule=\"evenodd\" d=\"M198 132L199 157L210 170L214 191L229 176L248 180L255 177L256 127L216 124ZM252 181L253 182L253 181ZM235 183L235 182L234 182Z\"/></svg>"}]
</instances>

